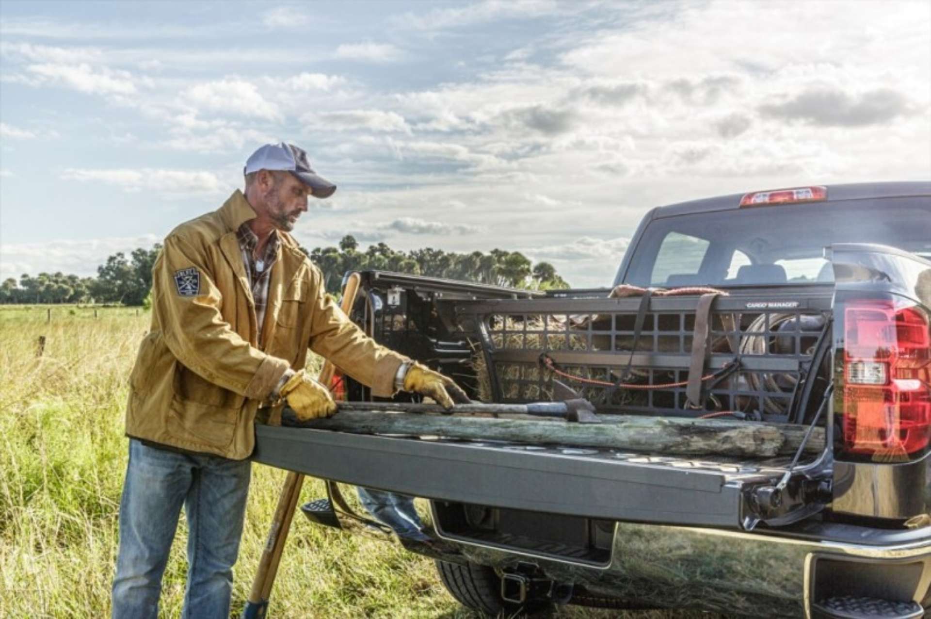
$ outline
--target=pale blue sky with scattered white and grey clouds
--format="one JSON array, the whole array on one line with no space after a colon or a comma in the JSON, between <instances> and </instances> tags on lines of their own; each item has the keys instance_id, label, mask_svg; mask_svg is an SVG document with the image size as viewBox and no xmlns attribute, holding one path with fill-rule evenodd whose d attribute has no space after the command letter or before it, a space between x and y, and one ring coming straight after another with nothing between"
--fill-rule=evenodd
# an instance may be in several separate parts
<instances>
[{"instance_id":1,"label":"pale blue sky with scattered white and grey clouds","mask_svg":"<svg viewBox=\"0 0 931 619\"><path fill-rule=\"evenodd\" d=\"M931 178L931 3L0 2L0 277L93 275L268 141L295 235L519 249L608 285L646 210Z\"/></svg>"}]
</instances>

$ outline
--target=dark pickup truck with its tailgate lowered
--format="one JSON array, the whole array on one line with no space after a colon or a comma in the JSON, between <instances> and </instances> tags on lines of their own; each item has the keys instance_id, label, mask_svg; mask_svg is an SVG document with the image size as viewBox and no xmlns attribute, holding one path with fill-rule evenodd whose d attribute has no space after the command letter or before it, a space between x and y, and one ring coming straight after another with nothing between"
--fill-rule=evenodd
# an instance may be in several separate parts
<instances>
[{"instance_id":1,"label":"dark pickup truck with its tailgate lowered","mask_svg":"<svg viewBox=\"0 0 931 619\"><path fill-rule=\"evenodd\" d=\"M416 505L420 534L385 536L437 559L452 596L479 612L569 603L923 616L929 259L931 182L894 182L653 209L611 288L362 274L358 324L475 399L547 400L559 379L605 417L820 426L816 454L689 457L260 426L255 460L329 480L330 496L304 506L321 524L392 533L344 484L377 489L383 507ZM347 396L372 399L351 380Z\"/></svg>"}]
</instances>

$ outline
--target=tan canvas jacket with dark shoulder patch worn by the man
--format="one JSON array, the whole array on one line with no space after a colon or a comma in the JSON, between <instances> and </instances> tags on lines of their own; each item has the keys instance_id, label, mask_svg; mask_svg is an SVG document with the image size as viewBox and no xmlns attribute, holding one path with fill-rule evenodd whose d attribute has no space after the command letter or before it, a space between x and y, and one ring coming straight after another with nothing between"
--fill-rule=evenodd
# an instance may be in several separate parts
<instances>
[{"instance_id":1,"label":"tan canvas jacket with dark shoulder patch worn by the man","mask_svg":"<svg viewBox=\"0 0 931 619\"><path fill-rule=\"evenodd\" d=\"M255 216L237 190L219 210L182 223L165 239L153 268L152 327L129 376L128 436L247 458L259 404L285 370L304 367L308 346L374 395L394 391L405 357L359 330L324 294L317 267L280 232L258 347L236 240L238 227Z\"/></svg>"}]
</instances>

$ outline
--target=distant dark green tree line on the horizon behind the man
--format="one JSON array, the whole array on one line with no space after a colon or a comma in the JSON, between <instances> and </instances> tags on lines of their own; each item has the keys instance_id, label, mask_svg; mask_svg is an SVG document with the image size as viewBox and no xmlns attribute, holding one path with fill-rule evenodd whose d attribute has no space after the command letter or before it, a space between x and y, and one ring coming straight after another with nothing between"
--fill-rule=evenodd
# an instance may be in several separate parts
<instances>
[{"instance_id":1,"label":"distant dark green tree line on the horizon behind the man","mask_svg":"<svg viewBox=\"0 0 931 619\"><path fill-rule=\"evenodd\" d=\"M0 303L122 303L143 305L152 288L152 266L161 245L109 256L97 267L97 276L58 273L23 274L0 284ZM519 251L492 249L488 253L456 253L442 249L397 251L385 243L364 251L352 235L338 247L301 248L323 271L328 292L338 293L346 271L366 269L446 277L514 288L560 289L569 284L549 262L533 264Z\"/></svg>"}]
</instances>

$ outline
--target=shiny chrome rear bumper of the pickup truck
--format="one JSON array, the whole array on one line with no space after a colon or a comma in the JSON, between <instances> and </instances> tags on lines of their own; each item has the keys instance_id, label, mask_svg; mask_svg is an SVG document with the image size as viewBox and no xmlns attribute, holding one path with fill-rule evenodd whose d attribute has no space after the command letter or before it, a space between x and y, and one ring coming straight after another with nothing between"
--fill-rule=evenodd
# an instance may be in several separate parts
<instances>
[{"instance_id":1,"label":"shiny chrome rear bumper of the pickup truck","mask_svg":"<svg viewBox=\"0 0 931 619\"><path fill-rule=\"evenodd\" d=\"M858 595L931 602L931 531L890 545L792 535L618 522L603 568L457 542L470 561L501 570L533 564L560 583L645 608L753 617L812 617L812 604L852 587ZM840 584L838 584L838 581Z\"/></svg>"}]
</instances>

